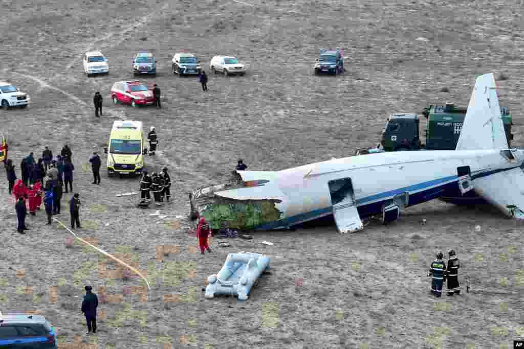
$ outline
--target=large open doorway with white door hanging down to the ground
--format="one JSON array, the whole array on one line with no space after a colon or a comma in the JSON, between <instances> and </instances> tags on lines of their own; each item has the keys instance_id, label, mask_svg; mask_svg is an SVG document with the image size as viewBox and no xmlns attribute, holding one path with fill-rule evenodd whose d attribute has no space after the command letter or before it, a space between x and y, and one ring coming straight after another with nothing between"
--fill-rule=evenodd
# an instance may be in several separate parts
<instances>
[{"instance_id":1,"label":"large open doorway with white door hanging down to the ground","mask_svg":"<svg viewBox=\"0 0 524 349\"><path fill-rule=\"evenodd\" d=\"M328 182L333 217L341 233L350 233L364 228L355 205L351 178L334 179Z\"/></svg>"}]
</instances>

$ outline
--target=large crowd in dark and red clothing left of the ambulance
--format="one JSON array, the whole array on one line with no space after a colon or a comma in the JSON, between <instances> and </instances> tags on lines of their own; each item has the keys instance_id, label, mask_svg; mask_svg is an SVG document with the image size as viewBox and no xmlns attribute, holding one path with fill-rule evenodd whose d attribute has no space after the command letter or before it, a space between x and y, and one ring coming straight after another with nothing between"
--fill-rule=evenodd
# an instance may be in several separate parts
<instances>
[{"instance_id":1,"label":"large crowd in dark and red clothing left of the ambulance","mask_svg":"<svg viewBox=\"0 0 524 349\"><path fill-rule=\"evenodd\" d=\"M22 179L17 180L16 166L13 160L6 162L7 180L9 182L9 195L14 195L16 199L15 209L18 219L17 231L21 234L28 230L25 224L26 216L36 216L40 210L42 201L47 213L47 224L51 224L53 215L60 215L63 187L65 193L73 190L73 170L71 161L72 152L66 144L62 148L57 160L53 159L53 154L48 147L42 152L42 157L35 161L34 153L30 153L20 163ZM43 185L45 183L45 185ZM43 186L42 186L43 185ZM43 200L42 200L43 196ZM74 194L70 201L71 227L75 223L80 227L79 194ZM29 207L29 209L27 209Z\"/></svg>"}]
</instances>

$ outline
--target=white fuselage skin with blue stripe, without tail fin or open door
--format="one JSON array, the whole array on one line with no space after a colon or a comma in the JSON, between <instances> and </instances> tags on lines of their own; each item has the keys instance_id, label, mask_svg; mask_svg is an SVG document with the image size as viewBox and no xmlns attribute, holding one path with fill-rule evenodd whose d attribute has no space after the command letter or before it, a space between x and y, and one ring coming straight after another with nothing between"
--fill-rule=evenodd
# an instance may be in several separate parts
<instances>
[{"instance_id":1,"label":"white fuselage skin with blue stripe, without tail fin or open door","mask_svg":"<svg viewBox=\"0 0 524 349\"><path fill-rule=\"evenodd\" d=\"M329 182L350 178L361 218L374 215L395 196L409 194L409 205L458 189L457 167L470 166L475 178L518 167L524 154L512 150L510 162L499 150L408 151L333 159L271 173L263 186L217 193L232 199L278 199L282 219L265 228L283 228L332 214Z\"/></svg>"}]
</instances>

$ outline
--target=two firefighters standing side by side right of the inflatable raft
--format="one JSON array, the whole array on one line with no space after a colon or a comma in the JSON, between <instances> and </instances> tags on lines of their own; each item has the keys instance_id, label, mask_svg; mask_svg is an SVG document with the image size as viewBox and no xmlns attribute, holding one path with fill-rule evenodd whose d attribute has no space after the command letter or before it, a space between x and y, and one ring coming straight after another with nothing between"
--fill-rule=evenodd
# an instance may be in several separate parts
<instances>
[{"instance_id":1,"label":"two firefighters standing side by side right of the inflatable raft","mask_svg":"<svg viewBox=\"0 0 524 349\"><path fill-rule=\"evenodd\" d=\"M447 267L442 258L442 252L436 254L436 259L431 263L428 276L432 276L431 293L436 297L442 296L442 285L447 279L447 296L460 295L459 284L459 258L455 250L447 252L449 260Z\"/></svg>"}]
</instances>

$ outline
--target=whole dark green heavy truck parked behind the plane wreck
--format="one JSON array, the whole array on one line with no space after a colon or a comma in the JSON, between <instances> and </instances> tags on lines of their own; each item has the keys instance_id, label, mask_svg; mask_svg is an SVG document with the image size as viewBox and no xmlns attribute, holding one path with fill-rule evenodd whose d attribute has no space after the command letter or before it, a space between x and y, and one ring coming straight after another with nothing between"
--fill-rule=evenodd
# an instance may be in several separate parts
<instances>
[{"instance_id":1,"label":"whole dark green heavy truck parked behind the plane wreck","mask_svg":"<svg viewBox=\"0 0 524 349\"><path fill-rule=\"evenodd\" d=\"M424 130L425 144L421 144L420 120L416 114L392 114L382 133L381 148L384 151L455 150L466 110L467 108L456 107L449 103L444 106L430 105L424 108L422 115L428 119ZM511 115L506 107L500 108L500 114L509 147L513 140Z\"/></svg>"}]
</instances>

